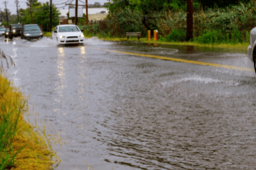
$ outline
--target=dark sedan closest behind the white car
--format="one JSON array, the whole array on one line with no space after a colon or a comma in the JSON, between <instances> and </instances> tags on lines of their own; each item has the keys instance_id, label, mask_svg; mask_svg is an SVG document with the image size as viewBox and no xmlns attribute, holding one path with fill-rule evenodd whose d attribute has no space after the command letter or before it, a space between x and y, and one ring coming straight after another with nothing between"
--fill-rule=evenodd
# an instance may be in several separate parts
<instances>
[{"instance_id":1,"label":"dark sedan closest behind the white car","mask_svg":"<svg viewBox=\"0 0 256 170\"><path fill-rule=\"evenodd\" d=\"M21 39L39 39L43 38L43 32L37 24L23 25L20 32Z\"/></svg>"}]
</instances>

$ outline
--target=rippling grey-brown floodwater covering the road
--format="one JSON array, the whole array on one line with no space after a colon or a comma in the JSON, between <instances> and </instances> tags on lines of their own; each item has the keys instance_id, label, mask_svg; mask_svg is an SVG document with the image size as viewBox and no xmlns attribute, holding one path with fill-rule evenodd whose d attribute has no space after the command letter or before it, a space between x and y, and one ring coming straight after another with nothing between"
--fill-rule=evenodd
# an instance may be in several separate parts
<instances>
[{"instance_id":1,"label":"rippling grey-brown floodwater covering the road","mask_svg":"<svg viewBox=\"0 0 256 170\"><path fill-rule=\"evenodd\" d=\"M255 169L253 71L174 62L122 52L253 69L243 52L86 39L0 38L16 67L8 77L60 132L56 169ZM102 48L100 50L100 48ZM31 110L33 106L30 107ZM86 164L85 164L86 163Z\"/></svg>"}]
</instances>

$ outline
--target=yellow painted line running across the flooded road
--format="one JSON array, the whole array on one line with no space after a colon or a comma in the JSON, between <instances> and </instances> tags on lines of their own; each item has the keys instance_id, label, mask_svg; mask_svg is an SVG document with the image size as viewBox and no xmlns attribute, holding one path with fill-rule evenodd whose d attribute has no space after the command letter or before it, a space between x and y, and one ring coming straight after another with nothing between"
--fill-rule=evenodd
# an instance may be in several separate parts
<instances>
[{"instance_id":1,"label":"yellow painted line running across the flooded road","mask_svg":"<svg viewBox=\"0 0 256 170\"><path fill-rule=\"evenodd\" d=\"M117 50L107 50L107 49L103 49L103 48L94 48L94 49L103 50L106 52L125 53L125 54L129 54L129 55L138 55L138 56L142 56L142 57L150 57L150 58L155 58L155 59L173 60L173 61L177 61L177 62L187 62L187 63L191 63L191 64L199 64L199 65L204 65L204 66L222 67L222 68L226 68L226 69L236 69L236 70L241 70L241 71L254 72L254 69L250 69L250 68L246 68L246 67L229 66L229 65L224 65L224 64L214 64L211 62L201 62L201 61L195 61L195 60L175 59L172 57L161 57L161 56L157 56L157 55L148 55L148 54L144 54L144 53L122 52L122 51L117 51Z\"/></svg>"}]
</instances>

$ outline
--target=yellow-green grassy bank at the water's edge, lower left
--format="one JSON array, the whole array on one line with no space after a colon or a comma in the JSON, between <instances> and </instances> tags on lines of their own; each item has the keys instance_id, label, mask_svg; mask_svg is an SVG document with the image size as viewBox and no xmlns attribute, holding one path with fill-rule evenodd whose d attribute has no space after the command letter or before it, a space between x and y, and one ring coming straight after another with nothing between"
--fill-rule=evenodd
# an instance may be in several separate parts
<instances>
[{"instance_id":1,"label":"yellow-green grassy bank at the water's edge, lower left","mask_svg":"<svg viewBox=\"0 0 256 170\"><path fill-rule=\"evenodd\" d=\"M22 92L0 74L1 170L52 169L52 164L56 163L52 157L58 156L51 149L45 130L26 122L24 117L28 110Z\"/></svg>"}]
</instances>

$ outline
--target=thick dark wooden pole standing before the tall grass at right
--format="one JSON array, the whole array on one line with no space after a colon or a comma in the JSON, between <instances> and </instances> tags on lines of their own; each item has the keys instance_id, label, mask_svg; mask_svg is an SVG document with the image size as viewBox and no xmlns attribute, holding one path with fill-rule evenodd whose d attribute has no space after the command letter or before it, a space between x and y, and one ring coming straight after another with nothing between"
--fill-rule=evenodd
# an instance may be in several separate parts
<instances>
[{"instance_id":1,"label":"thick dark wooden pole standing before the tall grass at right","mask_svg":"<svg viewBox=\"0 0 256 170\"><path fill-rule=\"evenodd\" d=\"M193 39L193 0L187 0L187 37L189 41Z\"/></svg>"}]
</instances>

